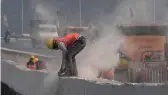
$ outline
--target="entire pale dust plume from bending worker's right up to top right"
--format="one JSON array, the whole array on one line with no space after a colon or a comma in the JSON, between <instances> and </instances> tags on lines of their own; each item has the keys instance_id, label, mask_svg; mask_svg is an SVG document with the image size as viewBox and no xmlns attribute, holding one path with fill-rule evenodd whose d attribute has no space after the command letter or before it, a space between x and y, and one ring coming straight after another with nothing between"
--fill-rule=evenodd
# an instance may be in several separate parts
<instances>
[{"instance_id":1,"label":"entire pale dust plume from bending worker's right up to top right","mask_svg":"<svg viewBox=\"0 0 168 95\"><path fill-rule=\"evenodd\" d=\"M155 9L156 6L163 7L163 3L161 5L156 1L158 0L155 2L154 0L124 0L110 15L104 14L98 23L103 27L100 31L103 36L95 44L86 47L78 56L80 59L78 62L80 63L78 64L79 77L96 78L100 70L114 70L118 66L117 51L125 38L116 29L116 25L149 25L159 22L164 24L164 21L157 19ZM163 9L167 8L164 6Z\"/></svg>"}]
</instances>

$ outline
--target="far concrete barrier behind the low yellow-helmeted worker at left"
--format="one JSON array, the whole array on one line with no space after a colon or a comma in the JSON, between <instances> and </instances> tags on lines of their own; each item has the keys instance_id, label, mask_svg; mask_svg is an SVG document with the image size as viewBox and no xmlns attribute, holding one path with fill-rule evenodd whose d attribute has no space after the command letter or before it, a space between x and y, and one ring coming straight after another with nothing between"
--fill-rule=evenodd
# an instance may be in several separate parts
<instances>
[{"instance_id":1,"label":"far concrete barrier behind the low yellow-helmeted worker at left","mask_svg":"<svg viewBox=\"0 0 168 95\"><path fill-rule=\"evenodd\" d=\"M48 56L33 52L25 52L1 47L1 58L10 59L17 63L26 63L32 55L37 56L39 59L42 59L46 62L52 62L54 59L59 59L56 56Z\"/></svg>"}]
</instances>

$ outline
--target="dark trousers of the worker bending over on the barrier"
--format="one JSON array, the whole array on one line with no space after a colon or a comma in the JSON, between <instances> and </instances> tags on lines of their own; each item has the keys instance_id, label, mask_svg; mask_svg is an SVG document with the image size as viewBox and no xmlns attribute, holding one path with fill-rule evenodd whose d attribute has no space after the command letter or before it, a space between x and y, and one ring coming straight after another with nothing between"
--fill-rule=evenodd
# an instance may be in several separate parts
<instances>
[{"instance_id":1,"label":"dark trousers of the worker bending over on the barrier","mask_svg":"<svg viewBox=\"0 0 168 95\"><path fill-rule=\"evenodd\" d=\"M64 73L62 76L77 76L77 66L75 56L84 49L86 39L81 36L74 44L68 48L67 53L62 53L62 65L59 73Z\"/></svg>"}]
</instances>

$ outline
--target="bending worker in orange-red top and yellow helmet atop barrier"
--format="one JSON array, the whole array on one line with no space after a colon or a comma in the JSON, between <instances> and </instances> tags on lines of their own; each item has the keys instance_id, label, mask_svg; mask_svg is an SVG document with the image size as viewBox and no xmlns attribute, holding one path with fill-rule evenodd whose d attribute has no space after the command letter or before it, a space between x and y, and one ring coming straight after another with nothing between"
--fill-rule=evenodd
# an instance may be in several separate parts
<instances>
[{"instance_id":1,"label":"bending worker in orange-red top and yellow helmet atop barrier","mask_svg":"<svg viewBox=\"0 0 168 95\"><path fill-rule=\"evenodd\" d=\"M58 76L77 76L75 56L84 49L86 39L78 33L67 34L62 38L49 38L49 49L62 50L62 65Z\"/></svg>"}]
</instances>

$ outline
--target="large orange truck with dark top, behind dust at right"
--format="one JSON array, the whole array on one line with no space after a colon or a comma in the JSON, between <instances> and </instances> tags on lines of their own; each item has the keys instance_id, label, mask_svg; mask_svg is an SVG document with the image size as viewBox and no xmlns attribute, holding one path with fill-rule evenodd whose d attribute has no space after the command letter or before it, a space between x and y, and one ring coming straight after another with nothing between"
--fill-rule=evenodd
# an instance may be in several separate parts
<instances>
[{"instance_id":1,"label":"large orange truck with dark top, behind dust at right","mask_svg":"<svg viewBox=\"0 0 168 95\"><path fill-rule=\"evenodd\" d=\"M117 76L125 78L119 80L168 82L168 64L165 61L168 25L117 25L116 28L125 36L120 65L115 70Z\"/></svg>"}]
</instances>

